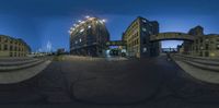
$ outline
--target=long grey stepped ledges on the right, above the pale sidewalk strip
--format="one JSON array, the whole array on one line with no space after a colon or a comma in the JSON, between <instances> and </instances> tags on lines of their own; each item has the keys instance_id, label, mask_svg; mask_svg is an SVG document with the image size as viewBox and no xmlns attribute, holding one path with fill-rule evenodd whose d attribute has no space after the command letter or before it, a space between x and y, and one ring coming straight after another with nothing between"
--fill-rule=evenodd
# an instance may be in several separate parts
<instances>
[{"instance_id":1,"label":"long grey stepped ledges on the right, above the pale sidewalk strip","mask_svg":"<svg viewBox=\"0 0 219 108\"><path fill-rule=\"evenodd\" d=\"M175 61L182 61L198 69L219 72L219 59L216 58L192 57L184 55L172 55L171 57Z\"/></svg>"}]
</instances>

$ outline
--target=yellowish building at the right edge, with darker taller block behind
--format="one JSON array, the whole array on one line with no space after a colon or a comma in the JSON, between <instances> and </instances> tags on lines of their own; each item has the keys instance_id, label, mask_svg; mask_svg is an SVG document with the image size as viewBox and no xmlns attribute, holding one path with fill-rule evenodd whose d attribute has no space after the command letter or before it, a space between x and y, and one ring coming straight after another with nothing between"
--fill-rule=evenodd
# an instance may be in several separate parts
<instances>
[{"instance_id":1,"label":"yellowish building at the right edge, with darker taller block behind","mask_svg":"<svg viewBox=\"0 0 219 108\"><path fill-rule=\"evenodd\" d=\"M219 57L219 35L204 34L204 27L196 26L188 32L195 36L194 41L184 41L181 53L194 57Z\"/></svg>"}]
</instances>

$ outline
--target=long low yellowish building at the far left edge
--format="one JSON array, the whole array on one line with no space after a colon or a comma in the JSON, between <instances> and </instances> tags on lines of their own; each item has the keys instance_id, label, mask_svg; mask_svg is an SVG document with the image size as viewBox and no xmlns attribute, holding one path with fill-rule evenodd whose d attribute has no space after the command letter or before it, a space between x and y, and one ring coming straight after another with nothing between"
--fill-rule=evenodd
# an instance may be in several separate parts
<instances>
[{"instance_id":1,"label":"long low yellowish building at the far left edge","mask_svg":"<svg viewBox=\"0 0 219 108\"><path fill-rule=\"evenodd\" d=\"M0 57L26 57L30 46L21 38L0 35Z\"/></svg>"}]
</instances>

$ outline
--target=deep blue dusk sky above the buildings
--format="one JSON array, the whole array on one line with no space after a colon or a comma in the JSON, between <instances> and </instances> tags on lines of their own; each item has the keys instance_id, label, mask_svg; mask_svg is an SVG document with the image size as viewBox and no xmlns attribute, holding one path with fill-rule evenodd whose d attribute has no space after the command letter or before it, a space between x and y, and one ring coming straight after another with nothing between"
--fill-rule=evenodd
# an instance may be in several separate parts
<instances>
[{"instance_id":1,"label":"deep blue dusk sky above the buildings","mask_svg":"<svg viewBox=\"0 0 219 108\"><path fill-rule=\"evenodd\" d=\"M111 39L137 17L160 23L160 32L185 32L201 25L206 34L219 34L218 0L0 0L0 34L23 38L33 49L69 49L68 31L85 15L106 19ZM175 47L182 41L163 41Z\"/></svg>"}]
</instances>

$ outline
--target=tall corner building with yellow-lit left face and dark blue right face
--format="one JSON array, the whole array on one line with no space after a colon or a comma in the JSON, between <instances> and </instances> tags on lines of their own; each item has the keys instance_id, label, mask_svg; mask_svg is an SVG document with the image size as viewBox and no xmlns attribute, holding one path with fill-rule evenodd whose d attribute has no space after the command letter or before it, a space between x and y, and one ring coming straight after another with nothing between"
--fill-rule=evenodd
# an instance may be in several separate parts
<instances>
[{"instance_id":1,"label":"tall corner building with yellow-lit left face and dark blue right face","mask_svg":"<svg viewBox=\"0 0 219 108\"><path fill-rule=\"evenodd\" d=\"M138 16L123 34L128 57L154 57L160 53L160 43L151 43L150 36L159 34L159 23Z\"/></svg>"}]
</instances>

